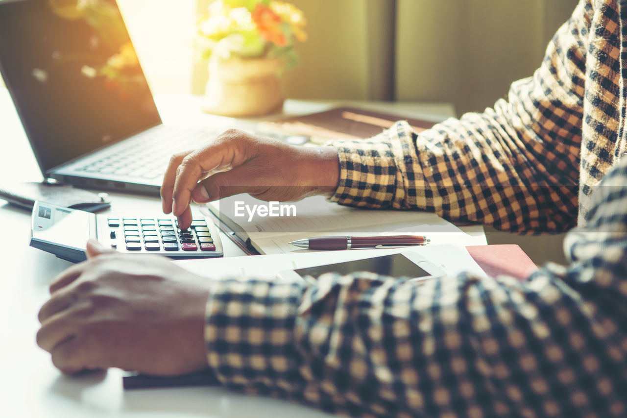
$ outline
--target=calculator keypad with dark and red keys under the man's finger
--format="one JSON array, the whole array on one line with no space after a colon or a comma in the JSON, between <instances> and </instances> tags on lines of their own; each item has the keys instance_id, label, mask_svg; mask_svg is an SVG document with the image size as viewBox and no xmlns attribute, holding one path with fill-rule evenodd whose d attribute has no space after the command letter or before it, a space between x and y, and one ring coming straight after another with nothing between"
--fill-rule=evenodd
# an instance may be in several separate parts
<instances>
[{"instance_id":1,"label":"calculator keypad with dark and red keys under the man's finger","mask_svg":"<svg viewBox=\"0 0 627 418\"><path fill-rule=\"evenodd\" d=\"M221 255L209 223L194 219L189 229L181 230L176 218L111 217L102 227L107 229L103 235L110 237L109 244L122 252L125 249L125 252L167 253L169 257L189 258Z\"/></svg>"}]
</instances>

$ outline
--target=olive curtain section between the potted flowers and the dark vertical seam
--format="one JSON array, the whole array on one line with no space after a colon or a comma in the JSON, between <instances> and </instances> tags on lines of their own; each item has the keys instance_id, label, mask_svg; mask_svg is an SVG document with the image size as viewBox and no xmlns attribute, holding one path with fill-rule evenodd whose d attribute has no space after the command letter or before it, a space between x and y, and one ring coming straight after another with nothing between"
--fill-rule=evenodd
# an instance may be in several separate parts
<instances>
[{"instance_id":1,"label":"olive curtain section between the potted flowers and the dark vertical seam","mask_svg":"<svg viewBox=\"0 0 627 418\"><path fill-rule=\"evenodd\" d=\"M301 65L286 73L290 97L393 99L394 2L293 0L309 21Z\"/></svg>"}]
</instances>

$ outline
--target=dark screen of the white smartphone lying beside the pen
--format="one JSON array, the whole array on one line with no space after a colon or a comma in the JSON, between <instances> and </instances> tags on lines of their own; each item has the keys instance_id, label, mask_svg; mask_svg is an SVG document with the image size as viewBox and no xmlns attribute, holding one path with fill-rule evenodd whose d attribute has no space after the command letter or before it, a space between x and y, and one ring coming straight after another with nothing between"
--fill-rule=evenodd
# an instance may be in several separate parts
<instances>
[{"instance_id":1,"label":"dark screen of the white smartphone lying beside the pen","mask_svg":"<svg viewBox=\"0 0 627 418\"><path fill-rule=\"evenodd\" d=\"M325 273L339 273L342 276L358 271L367 271L391 277L426 277L430 274L421 269L403 254L383 255L370 259L353 260L336 264L320 265L295 270L300 276L319 277Z\"/></svg>"}]
</instances>

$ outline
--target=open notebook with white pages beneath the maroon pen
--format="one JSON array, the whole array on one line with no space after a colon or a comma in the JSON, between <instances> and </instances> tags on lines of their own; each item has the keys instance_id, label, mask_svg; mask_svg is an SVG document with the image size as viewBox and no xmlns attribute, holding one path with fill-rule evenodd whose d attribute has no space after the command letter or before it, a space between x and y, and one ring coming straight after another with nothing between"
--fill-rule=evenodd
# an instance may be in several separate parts
<instances>
[{"instance_id":1,"label":"open notebook with white pages beneath the maroon pen","mask_svg":"<svg viewBox=\"0 0 627 418\"><path fill-rule=\"evenodd\" d=\"M452 223L428 212L352 208L330 203L323 196L312 196L281 204L294 205L296 216L269 217L258 213L250 216L241 210L239 213L243 212L244 216L236 216L235 207L241 208L241 202L249 208L268 206L268 202L237 195L208 203L206 208L260 254L310 252L289 242L324 235L424 235L432 244L461 245L465 245L464 239L468 238Z\"/></svg>"}]
</instances>

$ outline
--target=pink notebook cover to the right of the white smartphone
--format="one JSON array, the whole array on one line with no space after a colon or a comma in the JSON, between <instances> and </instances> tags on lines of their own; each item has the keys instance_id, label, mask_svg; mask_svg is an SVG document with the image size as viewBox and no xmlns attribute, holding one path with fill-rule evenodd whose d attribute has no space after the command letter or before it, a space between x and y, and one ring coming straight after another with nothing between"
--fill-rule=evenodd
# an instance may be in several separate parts
<instances>
[{"instance_id":1,"label":"pink notebook cover to the right of the white smartphone","mask_svg":"<svg viewBox=\"0 0 627 418\"><path fill-rule=\"evenodd\" d=\"M505 274L524 280L538 269L529 256L515 244L472 245L466 247L466 250L488 276Z\"/></svg>"}]
</instances>

